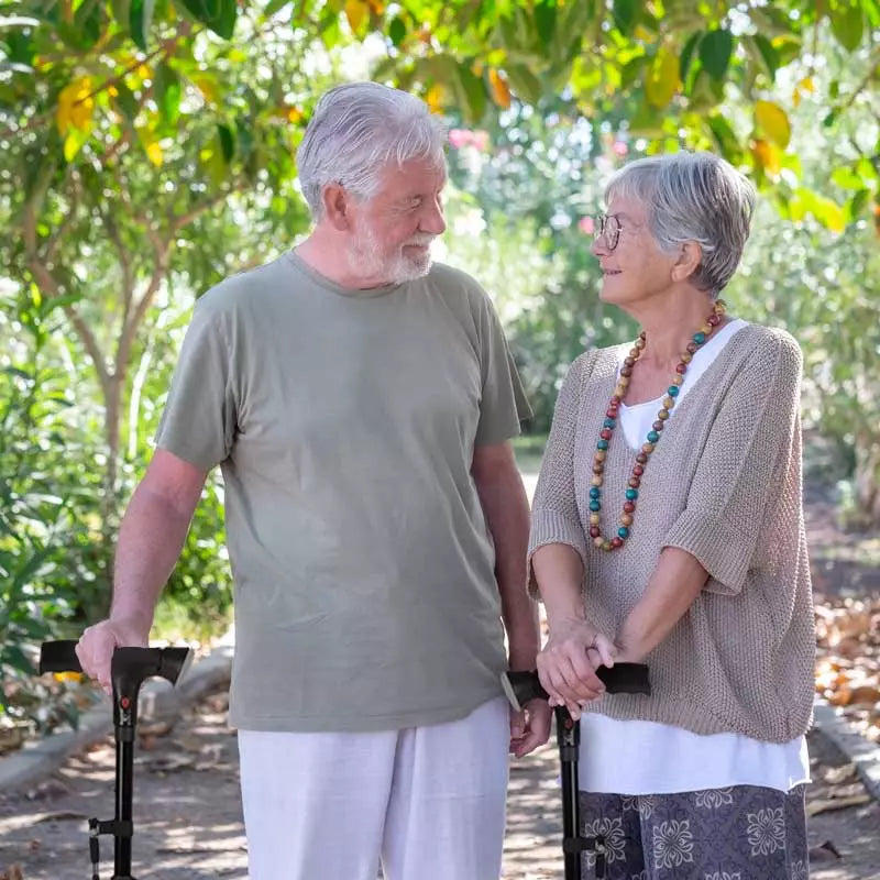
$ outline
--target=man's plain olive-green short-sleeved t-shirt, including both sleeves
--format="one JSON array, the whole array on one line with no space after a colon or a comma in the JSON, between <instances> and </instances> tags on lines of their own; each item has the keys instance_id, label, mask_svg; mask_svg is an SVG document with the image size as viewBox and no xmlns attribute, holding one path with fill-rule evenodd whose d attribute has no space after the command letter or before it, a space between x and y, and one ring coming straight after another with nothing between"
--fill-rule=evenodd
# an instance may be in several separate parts
<instances>
[{"instance_id":1,"label":"man's plain olive-green short-sleeved t-shirt, including both sleeves","mask_svg":"<svg viewBox=\"0 0 880 880\"><path fill-rule=\"evenodd\" d=\"M528 415L488 297L448 266L349 290L289 252L199 299L157 443L222 469L232 725L397 729L501 693L470 469Z\"/></svg>"}]
</instances>

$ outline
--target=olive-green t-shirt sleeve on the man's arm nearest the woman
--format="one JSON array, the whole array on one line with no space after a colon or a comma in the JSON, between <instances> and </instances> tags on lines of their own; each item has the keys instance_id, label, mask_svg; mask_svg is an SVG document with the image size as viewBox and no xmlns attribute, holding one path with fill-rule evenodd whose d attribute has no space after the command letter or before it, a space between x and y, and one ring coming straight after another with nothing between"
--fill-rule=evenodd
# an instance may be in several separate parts
<instances>
[{"instance_id":1,"label":"olive-green t-shirt sleeve on the man's arm nearest the woman","mask_svg":"<svg viewBox=\"0 0 880 880\"><path fill-rule=\"evenodd\" d=\"M501 320L486 294L481 294L477 332L482 388L475 443L487 447L519 435L519 422L532 414Z\"/></svg>"}]
</instances>

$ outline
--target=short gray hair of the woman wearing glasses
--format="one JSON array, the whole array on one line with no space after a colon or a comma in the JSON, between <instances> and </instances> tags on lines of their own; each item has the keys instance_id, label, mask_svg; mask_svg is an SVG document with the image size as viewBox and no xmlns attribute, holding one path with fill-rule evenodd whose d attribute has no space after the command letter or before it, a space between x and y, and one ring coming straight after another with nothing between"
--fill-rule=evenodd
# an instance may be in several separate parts
<instances>
[{"instance_id":1,"label":"short gray hair of the woman wearing glasses","mask_svg":"<svg viewBox=\"0 0 880 880\"><path fill-rule=\"evenodd\" d=\"M634 198L648 209L648 227L663 253L686 241L703 250L692 282L713 298L733 277L749 237L755 187L712 153L670 153L636 160L612 177L605 201Z\"/></svg>"}]
</instances>

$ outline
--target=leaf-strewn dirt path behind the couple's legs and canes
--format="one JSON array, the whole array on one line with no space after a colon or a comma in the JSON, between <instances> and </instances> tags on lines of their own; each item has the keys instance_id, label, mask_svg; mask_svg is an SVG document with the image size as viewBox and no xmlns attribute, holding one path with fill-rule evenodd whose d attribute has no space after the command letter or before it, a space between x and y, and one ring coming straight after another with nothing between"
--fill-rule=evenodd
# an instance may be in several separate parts
<instances>
[{"instance_id":1,"label":"leaf-strewn dirt path behind the couple's legs and canes","mask_svg":"<svg viewBox=\"0 0 880 880\"><path fill-rule=\"evenodd\" d=\"M148 736L136 759L135 864L141 880L246 878L244 828L238 791L235 738L227 727L226 694L188 710L164 736ZM146 730L146 727L144 727ZM864 794L861 783L838 771L844 761L812 737L814 778L810 801ZM562 876L556 749L547 746L514 765L508 800L504 880ZM72 758L32 791L0 794L0 879L85 880L86 821L113 809L113 748L109 739ZM870 802L821 813L811 823L813 880L880 880L880 806ZM105 843L107 840L108 843ZM829 840L840 854L818 845ZM112 846L102 838L101 877L112 873ZM3 872L6 869L6 873ZM415 879L414 879L415 880ZM450 880L454 880L450 878ZM743 880L770 880L743 878Z\"/></svg>"}]
</instances>

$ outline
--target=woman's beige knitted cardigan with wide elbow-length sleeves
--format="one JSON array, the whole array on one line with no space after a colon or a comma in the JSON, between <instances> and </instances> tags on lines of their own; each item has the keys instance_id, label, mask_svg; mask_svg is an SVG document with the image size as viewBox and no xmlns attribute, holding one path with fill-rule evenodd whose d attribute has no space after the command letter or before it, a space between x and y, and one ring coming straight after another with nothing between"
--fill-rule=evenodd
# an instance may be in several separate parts
<instances>
[{"instance_id":1,"label":"woman's beige knitted cardigan with wide elbow-length sleeves","mask_svg":"<svg viewBox=\"0 0 880 880\"><path fill-rule=\"evenodd\" d=\"M532 505L529 588L538 586L530 563L538 548L573 547L584 562L586 617L613 636L661 550L692 553L710 580L646 658L651 696L608 694L586 711L789 741L812 721L815 660L798 343L755 324L733 337L667 422L641 477L629 538L604 552L586 532L588 492L618 363L618 348L590 351L565 377ZM636 452L615 431L603 535L616 531Z\"/></svg>"}]
</instances>

